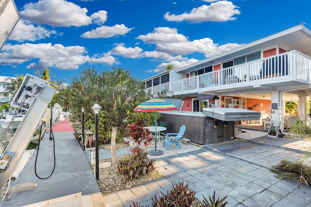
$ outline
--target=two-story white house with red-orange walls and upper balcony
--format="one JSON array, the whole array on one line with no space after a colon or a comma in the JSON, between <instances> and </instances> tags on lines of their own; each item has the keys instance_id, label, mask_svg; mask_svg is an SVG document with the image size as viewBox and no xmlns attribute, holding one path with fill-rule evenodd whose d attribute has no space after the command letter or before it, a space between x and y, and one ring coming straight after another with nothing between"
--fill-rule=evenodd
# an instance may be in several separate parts
<instances>
[{"instance_id":1,"label":"two-story white house with red-orange walls and upper balcony","mask_svg":"<svg viewBox=\"0 0 311 207\"><path fill-rule=\"evenodd\" d=\"M281 121L282 127L286 101L299 101L299 116L307 117L311 31L298 25L143 82L147 93L157 95L166 90L182 96L182 111L231 103L235 108L268 114Z\"/></svg>"}]
</instances>

